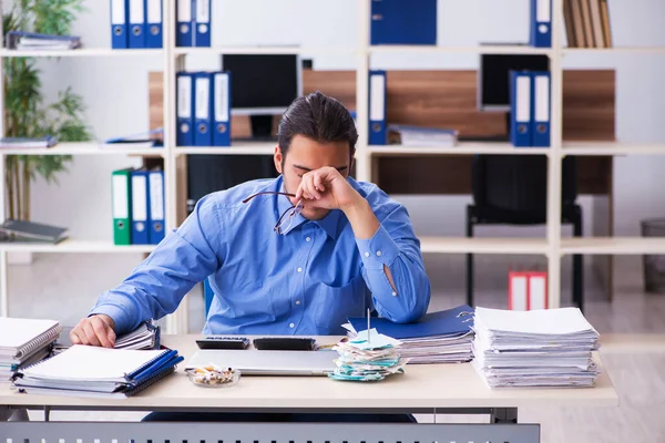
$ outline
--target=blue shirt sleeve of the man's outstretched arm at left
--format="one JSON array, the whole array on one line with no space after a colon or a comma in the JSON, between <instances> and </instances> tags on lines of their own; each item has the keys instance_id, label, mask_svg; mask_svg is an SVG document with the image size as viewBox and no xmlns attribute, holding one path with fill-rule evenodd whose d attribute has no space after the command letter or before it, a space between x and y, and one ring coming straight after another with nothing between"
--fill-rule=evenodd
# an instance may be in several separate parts
<instances>
[{"instance_id":1,"label":"blue shirt sleeve of the man's outstretched arm at left","mask_svg":"<svg viewBox=\"0 0 665 443\"><path fill-rule=\"evenodd\" d=\"M214 196L201 198L190 217L124 281L100 296L90 315L108 315L115 332L123 333L174 312L194 285L221 266L221 218Z\"/></svg>"}]
</instances>

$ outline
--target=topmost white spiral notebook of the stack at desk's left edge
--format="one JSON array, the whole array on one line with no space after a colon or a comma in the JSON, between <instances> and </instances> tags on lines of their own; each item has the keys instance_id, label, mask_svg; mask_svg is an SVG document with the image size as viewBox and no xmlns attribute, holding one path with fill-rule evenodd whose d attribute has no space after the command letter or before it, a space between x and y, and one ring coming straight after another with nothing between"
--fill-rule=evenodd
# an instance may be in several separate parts
<instances>
[{"instance_id":1,"label":"topmost white spiral notebook of the stack at desk's left edge","mask_svg":"<svg viewBox=\"0 0 665 443\"><path fill-rule=\"evenodd\" d=\"M21 361L54 341L61 331L57 320L0 317L0 357Z\"/></svg>"}]
</instances>

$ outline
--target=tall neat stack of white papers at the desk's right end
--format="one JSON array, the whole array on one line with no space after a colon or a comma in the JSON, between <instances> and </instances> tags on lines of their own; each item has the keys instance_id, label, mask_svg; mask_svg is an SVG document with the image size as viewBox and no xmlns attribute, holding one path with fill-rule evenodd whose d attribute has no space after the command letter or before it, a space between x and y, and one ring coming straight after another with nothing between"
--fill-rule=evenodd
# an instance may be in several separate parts
<instances>
[{"instance_id":1,"label":"tall neat stack of white papers at the desk's right end","mask_svg":"<svg viewBox=\"0 0 665 443\"><path fill-rule=\"evenodd\" d=\"M587 388L600 336L580 309L475 309L473 367L490 388Z\"/></svg>"}]
</instances>

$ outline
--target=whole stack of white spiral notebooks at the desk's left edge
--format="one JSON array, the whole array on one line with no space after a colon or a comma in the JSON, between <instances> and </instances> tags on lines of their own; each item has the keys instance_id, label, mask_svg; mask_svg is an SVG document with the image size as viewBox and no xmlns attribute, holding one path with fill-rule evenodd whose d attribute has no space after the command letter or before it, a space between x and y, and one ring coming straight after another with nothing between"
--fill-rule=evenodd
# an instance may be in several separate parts
<instances>
[{"instance_id":1,"label":"whole stack of white spiral notebooks at the desk's left edge","mask_svg":"<svg viewBox=\"0 0 665 443\"><path fill-rule=\"evenodd\" d=\"M0 381L49 357L61 330L55 320L0 317Z\"/></svg>"}]
</instances>

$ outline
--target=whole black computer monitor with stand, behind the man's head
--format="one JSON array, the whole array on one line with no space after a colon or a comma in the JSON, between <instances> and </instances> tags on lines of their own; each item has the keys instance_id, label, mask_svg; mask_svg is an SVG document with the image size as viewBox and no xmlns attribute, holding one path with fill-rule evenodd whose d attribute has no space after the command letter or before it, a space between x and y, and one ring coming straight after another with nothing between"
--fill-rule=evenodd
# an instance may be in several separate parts
<instances>
[{"instance_id":1,"label":"whole black computer monitor with stand, behind the man's head","mask_svg":"<svg viewBox=\"0 0 665 443\"><path fill-rule=\"evenodd\" d=\"M254 138L272 138L273 115L282 115L303 94L298 54L224 54L231 72L231 113L249 115Z\"/></svg>"}]
</instances>

